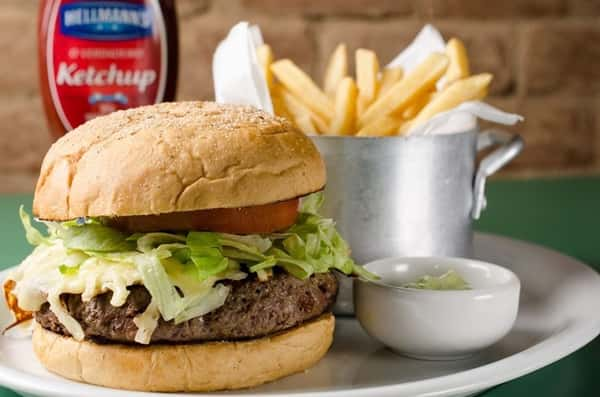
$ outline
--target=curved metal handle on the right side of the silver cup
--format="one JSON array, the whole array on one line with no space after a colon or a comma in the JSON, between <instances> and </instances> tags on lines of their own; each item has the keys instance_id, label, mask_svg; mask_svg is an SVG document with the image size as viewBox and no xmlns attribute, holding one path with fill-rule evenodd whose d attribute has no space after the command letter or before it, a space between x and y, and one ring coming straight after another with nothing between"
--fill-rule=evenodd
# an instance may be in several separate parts
<instances>
[{"instance_id":1,"label":"curved metal handle on the right side of the silver cup","mask_svg":"<svg viewBox=\"0 0 600 397\"><path fill-rule=\"evenodd\" d=\"M500 147L479 162L473 188L475 198L471 212L473 219L479 219L481 212L487 205L485 199L485 181L487 177L517 157L521 150L523 150L523 145L521 136L512 132L492 128L479 133L477 136L478 152L491 146Z\"/></svg>"}]
</instances>

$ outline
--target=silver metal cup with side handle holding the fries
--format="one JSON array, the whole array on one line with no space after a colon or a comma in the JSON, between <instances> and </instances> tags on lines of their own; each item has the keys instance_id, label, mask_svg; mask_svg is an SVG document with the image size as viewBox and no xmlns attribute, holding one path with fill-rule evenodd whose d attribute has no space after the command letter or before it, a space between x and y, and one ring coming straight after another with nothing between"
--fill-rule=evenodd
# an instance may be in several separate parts
<instances>
[{"instance_id":1,"label":"silver metal cup with side handle holding the fries","mask_svg":"<svg viewBox=\"0 0 600 397\"><path fill-rule=\"evenodd\" d=\"M473 129L407 137L314 136L327 165L323 214L359 264L394 256L469 257L486 178L523 148L519 135ZM477 164L477 153L495 146ZM337 314L352 314L340 279Z\"/></svg>"}]
</instances>

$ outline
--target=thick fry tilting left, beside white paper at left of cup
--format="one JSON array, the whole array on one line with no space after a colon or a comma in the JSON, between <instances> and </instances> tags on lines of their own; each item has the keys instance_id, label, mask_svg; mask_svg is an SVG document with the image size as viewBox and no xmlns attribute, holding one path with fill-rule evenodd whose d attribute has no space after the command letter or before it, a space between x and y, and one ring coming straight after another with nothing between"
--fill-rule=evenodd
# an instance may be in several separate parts
<instances>
[{"instance_id":1,"label":"thick fry tilting left, beside white paper at left of cup","mask_svg":"<svg viewBox=\"0 0 600 397\"><path fill-rule=\"evenodd\" d=\"M306 107L321 116L326 122L333 118L333 104L327 95L292 61L289 59L276 61L271 65L271 71L277 80Z\"/></svg>"}]
</instances>

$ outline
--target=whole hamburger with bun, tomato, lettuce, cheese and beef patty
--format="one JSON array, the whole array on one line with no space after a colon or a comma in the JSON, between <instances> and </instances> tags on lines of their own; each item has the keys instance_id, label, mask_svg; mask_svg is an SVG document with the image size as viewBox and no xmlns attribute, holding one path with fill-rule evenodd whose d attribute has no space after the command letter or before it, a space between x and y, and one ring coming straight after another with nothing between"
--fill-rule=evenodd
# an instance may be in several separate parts
<instances>
[{"instance_id":1,"label":"whole hamburger with bun, tomato, lettuce, cheese and beef patty","mask_svg":"<svg viewBox=\"0 0 600 397\"><path fill-rule=\"evenodd\" d=\"M33 252L4 290L51 372L144 391L238 389L331 345L334 272L369 277L318 214L310 139L251 107L163 103L95 118L42 163Z\"/></svg>"}]
</instances>

